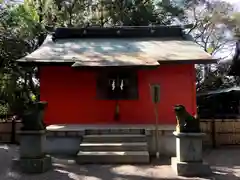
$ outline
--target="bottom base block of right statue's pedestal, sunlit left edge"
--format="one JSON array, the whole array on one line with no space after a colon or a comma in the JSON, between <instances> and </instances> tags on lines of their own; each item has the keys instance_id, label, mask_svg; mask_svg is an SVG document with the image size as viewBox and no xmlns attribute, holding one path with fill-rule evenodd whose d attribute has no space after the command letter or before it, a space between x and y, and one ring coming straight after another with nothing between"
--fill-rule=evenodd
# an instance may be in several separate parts
<instances>
[{"instance_id":1,"label":"bottom base block of right statue's pedestal, sunlit left edge","mask_svg":"<svg viewBox=\"0 0 240 180\"><path fill-rule=\"evenodd\" d=\"M171 165L178 176L206 177L212 175L210 166L202 162L179 162L176 157L173 157Z\"/></svg>"}]
</instances>

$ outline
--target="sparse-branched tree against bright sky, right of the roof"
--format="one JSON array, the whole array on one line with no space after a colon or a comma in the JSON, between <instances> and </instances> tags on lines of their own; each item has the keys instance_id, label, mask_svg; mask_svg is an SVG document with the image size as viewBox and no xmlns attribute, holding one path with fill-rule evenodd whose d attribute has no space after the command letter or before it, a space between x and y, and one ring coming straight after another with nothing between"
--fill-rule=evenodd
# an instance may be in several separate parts
<instances>
[{"instance_id":1,"label":"sparse-branched tree against bright sky, right of the roof","mask_svg":"<svg viewBox=\"0 0 240 180\"><path fill-rule=\"evenodd\" d=\"M231 58L235 48L234 35L237 31L234 8L224 1L198 1L187 4L188 22L193 23L187 32L206 52L220 59ZM236 15L235 15L236 16ZM225 51L219 56L220 52ZM239 78L228 76L229 63L198 65L197 91L216 90L239 84Z\"/></svg>"}]
</instances>

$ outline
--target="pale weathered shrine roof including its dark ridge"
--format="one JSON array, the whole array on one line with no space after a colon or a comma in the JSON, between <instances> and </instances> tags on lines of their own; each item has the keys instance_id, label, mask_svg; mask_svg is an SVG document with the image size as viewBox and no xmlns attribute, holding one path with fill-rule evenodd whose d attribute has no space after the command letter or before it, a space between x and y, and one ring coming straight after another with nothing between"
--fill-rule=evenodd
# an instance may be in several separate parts
<instances>
[{"instance_id":1,"label":"pale weathered shrine roof including its dark ridge","mask_svg":"<svg viewBox=\"0 0 240 180\"><path fill-rule=\"evenodd\" d=\"M36 51L18 60L73 66L157 66L211 63L212 57L173 27L59 28Z\"/></svg>"}]
</instances>

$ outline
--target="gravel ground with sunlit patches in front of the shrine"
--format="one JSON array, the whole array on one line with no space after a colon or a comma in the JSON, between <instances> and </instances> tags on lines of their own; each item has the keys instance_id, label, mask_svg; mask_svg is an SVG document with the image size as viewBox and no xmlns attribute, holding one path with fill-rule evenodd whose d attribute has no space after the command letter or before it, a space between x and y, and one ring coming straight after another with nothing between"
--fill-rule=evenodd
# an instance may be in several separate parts
<instances>
[{"instance_id":1,"label":"gravel ground with sunlit patches in front of the shrine","mask_svg":"<svg viewBox=\"0 0 240 180\"><path fill-rule=\"evenodd\" d=\"M84 165L70 158L54 158L54 169L40 175L24 175L12 168L17 146L0 145L0 180L240 180L240 147L212 150L205 153L214 176L183 178L174 175L169 160L151 165Z\"/></svg>"}]
</instances>

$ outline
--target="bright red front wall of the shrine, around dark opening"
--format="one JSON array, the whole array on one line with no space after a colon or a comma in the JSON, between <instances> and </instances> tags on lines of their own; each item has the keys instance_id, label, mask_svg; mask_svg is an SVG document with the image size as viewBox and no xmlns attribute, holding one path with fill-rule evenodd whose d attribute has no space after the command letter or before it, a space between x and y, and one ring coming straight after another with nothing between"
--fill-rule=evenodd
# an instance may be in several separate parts
<instances>
[{"instance_id":1,"label":"bright red front wall of the shrine, around dark opening","mask_svg":"<svg viewBox=\"0 0 240 180\"><path fill-rule=\"evenodd\" d=\"M154 109L150 83L161 86L159 123L175 124L173 106L183 104L195 114L194 65L161 65L155 70L139 70L139 99L120 101L120 120L114 121L115 101L96 99L94 71L71 67L40 68L41 100L48 101L47 124L153 124Z\"/></svg>"}]
</instances>

